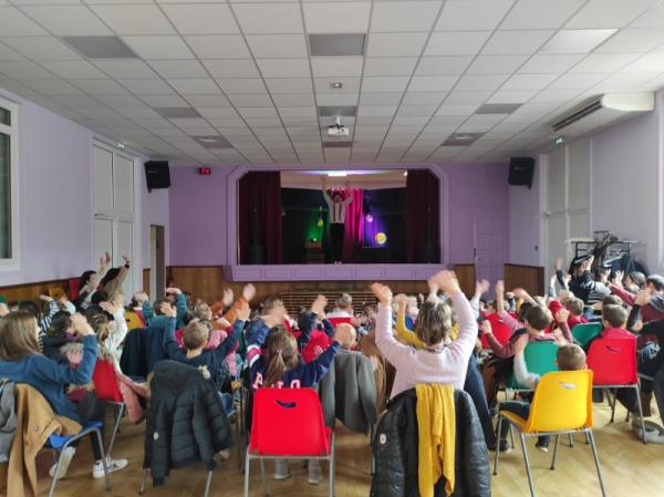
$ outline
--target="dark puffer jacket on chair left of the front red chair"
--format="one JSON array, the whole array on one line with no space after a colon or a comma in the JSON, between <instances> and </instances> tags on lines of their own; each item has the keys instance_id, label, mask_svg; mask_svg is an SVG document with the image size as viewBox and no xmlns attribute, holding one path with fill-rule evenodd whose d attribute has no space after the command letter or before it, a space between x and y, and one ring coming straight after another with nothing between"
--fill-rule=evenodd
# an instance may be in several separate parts
<instances>
[{"instance_id":1,"label":"dark puffer jacket on chair left of the front red chair","mask_svg":"<svg viewBox=\"0 0 664 497\"><path fill-rule=\"evenodd\" d=\"M156 487L170 468L203 460L208 470L214 469L214 455L228 448L232 436L221 397L201 371L160 361L154 373L143 467L151 468Z\"/></svg>"}]
</instances>

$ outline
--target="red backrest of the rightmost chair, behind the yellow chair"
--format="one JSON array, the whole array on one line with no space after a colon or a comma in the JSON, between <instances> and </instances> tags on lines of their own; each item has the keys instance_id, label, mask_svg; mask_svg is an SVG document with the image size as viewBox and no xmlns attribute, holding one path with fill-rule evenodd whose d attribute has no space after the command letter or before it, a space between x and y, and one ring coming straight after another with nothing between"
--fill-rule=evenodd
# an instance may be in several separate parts
<instances>
[{"instance_id":1,"label":"red backrest of the rightmost chair, behind the yellow chair","mask_svg":"<svg viewBox=\"0 0 664 497\"><path fill-rule=\"evenodd\" d=\"M594 340L588 352L588 369L593 372L595 385L636 384L636 340Z\"/></svg>"}]
</instances>

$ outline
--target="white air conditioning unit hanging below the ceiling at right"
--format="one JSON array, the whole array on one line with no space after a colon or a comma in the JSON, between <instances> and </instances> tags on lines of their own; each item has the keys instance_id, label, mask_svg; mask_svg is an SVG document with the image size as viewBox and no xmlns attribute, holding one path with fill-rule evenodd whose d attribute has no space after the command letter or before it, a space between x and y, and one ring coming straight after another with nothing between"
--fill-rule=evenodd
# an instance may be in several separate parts
<instances>
[{"instance_id":1,"label":"white air conditioning unit hanging below the ceiling at right","mask_svg":"<svg viewBox=\"0 0 664 497\"><path fill-rule=\"evenodd\" d=\"M552 123L552 127L556 133L574 137L626 121L637 114L652 112L654 108L654 92L606 93L568 111Z\"/></svg>"}]
</instances>

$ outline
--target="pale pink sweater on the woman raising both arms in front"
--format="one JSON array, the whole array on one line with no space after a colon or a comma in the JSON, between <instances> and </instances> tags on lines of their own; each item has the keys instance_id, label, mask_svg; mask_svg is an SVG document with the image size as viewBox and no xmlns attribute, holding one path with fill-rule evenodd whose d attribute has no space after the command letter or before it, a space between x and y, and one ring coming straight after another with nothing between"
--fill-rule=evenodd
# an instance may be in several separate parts
<instances>
[{"instance_id":1,"label":"pale pink sweater on the woman raising both arms in front","mask_svg":"<svg viewBox=\"0 0 664 497\"><path fill-rule=\"evenodd\" d=\"M378 307L376 344L396 369L392 397L422 383L464 389L468 359L477 339L477 323L461 292L453 294L452 301L459 324L458 336L437 351L415 349L398 342L392 334L392 309Z\"/></svg>"}]
</instances>

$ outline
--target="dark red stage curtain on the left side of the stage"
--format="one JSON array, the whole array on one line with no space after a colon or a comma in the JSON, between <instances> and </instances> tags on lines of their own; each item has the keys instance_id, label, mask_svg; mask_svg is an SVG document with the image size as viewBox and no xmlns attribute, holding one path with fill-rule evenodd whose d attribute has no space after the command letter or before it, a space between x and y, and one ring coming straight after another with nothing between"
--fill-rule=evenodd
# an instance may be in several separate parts
<instances>
[{"instance_id":1,"label":"dark red stage curtain on the left side of the stage","mask_svg":"<svg viewBox=\"0 0 664 497\"><path fill-rule=\"evenodd\" d=\"M239 237L240 263L281 263L281 176L278 172L247 173L240 178Z\"/></svg>"}]
</instances>

